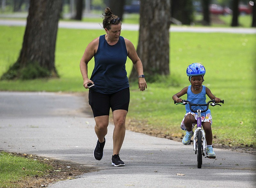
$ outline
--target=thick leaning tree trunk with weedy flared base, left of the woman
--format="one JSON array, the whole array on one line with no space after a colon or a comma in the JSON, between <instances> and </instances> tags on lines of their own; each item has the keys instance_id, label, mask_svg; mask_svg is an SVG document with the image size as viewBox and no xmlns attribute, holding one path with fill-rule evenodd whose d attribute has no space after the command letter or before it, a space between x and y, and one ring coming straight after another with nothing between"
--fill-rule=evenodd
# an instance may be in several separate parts
<instances>
[{"instance_id":1,"label":"thick leaning tree trunk with weedy flared base, left of the woman","mask_svg":"<svg viewBox=\"0 0 256 188\"><path fill-rule=\"evenodd\" d=\"M17 62L2 76L2 79L24 79L57 76L55 68L55 43L62 0L30 0L27 26L22 49ZM35 69L37 69L35 73ZM47 74L42 73L42 69ZM41 75L40 75L41 71Z\"/></svg>"}]
</instances>

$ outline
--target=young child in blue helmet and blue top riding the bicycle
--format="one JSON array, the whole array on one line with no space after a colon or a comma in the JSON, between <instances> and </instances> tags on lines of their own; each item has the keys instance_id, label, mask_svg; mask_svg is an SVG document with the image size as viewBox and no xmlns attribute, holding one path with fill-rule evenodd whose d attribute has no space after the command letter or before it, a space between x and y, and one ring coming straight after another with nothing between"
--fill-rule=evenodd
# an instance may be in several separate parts
<instances>
[{"instance_id":1,"label":"young child in blue helmet and blue top riding the bicycle","mask_svg":"<svg viewBox=\"0 0 256 188\"><path fill-rule=\"evenodd\" d=\"M206 104L206 95L211 99L215 100L216 103L220 102L220 98L215 97L211 90L205 87L204 82L205 68L200 63L192 63L187 68L188 81L191 83L188 87L183 88L180 92L172 96L173 100L176 100L177 103L182 102L181 96L187 94L187 100L194 104ZM205 106L206 107L206 106ZM182 144L190 144L190 139L193 136L194 132L192 125L196 124L197 113L191 112L189 109L189 104L185 106L186 114L183 118L180 128L186 130L186 135L182 139ZM200 109L200 108L199 108ZM206 154L211 157L215 157L215 153L212 148L212 115L210 109L205 113L201 114L202 116L202 126L205 132L205 138L207 142Z\"/></svg>"}]
</instances>

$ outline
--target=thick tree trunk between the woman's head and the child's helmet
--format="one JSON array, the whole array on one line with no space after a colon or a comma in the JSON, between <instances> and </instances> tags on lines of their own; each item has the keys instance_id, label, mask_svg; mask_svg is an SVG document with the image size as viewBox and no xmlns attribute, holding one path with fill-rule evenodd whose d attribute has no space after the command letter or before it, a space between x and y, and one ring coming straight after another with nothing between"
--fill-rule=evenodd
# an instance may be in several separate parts
<instances>
[{"instance_id":1,"label":"thick tree trunk between the woman's head and the child's helmet","mask_svg":"<svg viewBox=\"0 0 256 188\"><path fill-rule=\"evenodd\" d=\"M170 0L141 0L140 34L137 53L148 82L156 75L169 75ZM138 79L133 67L129 80Z\"/></svg>"}]
</instances>

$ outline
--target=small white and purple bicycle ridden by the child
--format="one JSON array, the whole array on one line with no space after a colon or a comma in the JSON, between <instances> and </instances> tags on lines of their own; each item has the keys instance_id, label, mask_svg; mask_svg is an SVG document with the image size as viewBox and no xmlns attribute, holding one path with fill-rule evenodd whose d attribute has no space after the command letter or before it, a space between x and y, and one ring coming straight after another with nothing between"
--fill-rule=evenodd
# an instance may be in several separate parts
<instances>
[{"instance_id":1,"label":"small white and purple bicycle ridden by the child","mask_svg":"<svg viewBox=\"0 0 256 188\"><path fill-rule=\"evenodd\" d=\"M221 100L220 103L224 104L224 100ZM189 102L188 100L182 100L181 103L176 103L176 100L175 100L174 104L176 104L176 105L178 105L178 104L181 104L181 105L189 104L189 108L190 108L191 112L197 113L196 128L193 125L193 127L195 128L195 132L194 132L194 135L193 135L194 139L193 139L193 141L190 140L189 144L191 144L191 142L193 142L193 149L195 151L195 154L197 154L197 168L201 168L202 167L202 156L204 156L204 158L207 157L209 159L215 159L216 158L215 156L212 157L212 156L207 156L206 155L207 143L206 143L206 139L205 139L204 129L202 129L201 113L206 112L209 108L209 105L211 105L211 106L216 106L216 105L221 106L221 105L215 103L215 100L210 100L206 104L194 104L194 103ZM202 108L202 110L201 109L194 110L195 107L192 108L192 106L195 106L195 107L200 106L200 108ZM206 106L206 109L204 109L202 106Z\"/></svg>"}]
</instances>

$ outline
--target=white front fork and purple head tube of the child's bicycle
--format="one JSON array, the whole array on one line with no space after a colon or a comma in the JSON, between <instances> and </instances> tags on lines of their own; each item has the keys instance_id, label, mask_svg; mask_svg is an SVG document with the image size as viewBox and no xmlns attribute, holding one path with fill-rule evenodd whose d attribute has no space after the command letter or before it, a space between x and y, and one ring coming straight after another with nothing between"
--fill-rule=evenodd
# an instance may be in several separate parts
<instances>
[{"instance_id":1,"label":"white front fork and purple head tube of the child's bicycle","mask_svg":"<svg viewBox=\"0 0 256 188\"><path fill-rule=\"evenodd\" d=\"M197 128L195 129L195 132L194 132L194 141L193 141L193 149L195 152L196 151L196 139L197 139L197 132L198 131L201 131L202 132L202 142L203 142L203 156L204 158L206 158L206 139L205 139L205 133L204 133L204 130L202 129L202 117L201 117L201 110L198 109L197 110ZM198 148L197 148L198 149Z\"/></svg>"}]
</instances>

